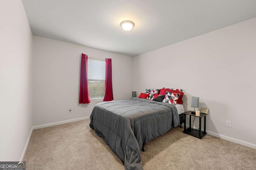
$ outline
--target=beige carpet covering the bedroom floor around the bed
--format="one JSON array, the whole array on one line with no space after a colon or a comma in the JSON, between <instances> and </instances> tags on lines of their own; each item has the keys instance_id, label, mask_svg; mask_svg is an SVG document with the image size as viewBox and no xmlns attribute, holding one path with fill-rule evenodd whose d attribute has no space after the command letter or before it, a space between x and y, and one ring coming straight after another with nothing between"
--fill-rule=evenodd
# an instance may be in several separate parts
<instances>
[{"instance_id":1,"label":"beige carpet covering the bedroom floor around the bed","mask_svg":"<svg viewBox=\"0 0 256 170\"><path fill-rule=\"evenodd\" d=\"M123 170L122 161L89 127L90 120L36 129L26 170ZM256 170L256 150L210 135L197 139L176 127L141 152L144 170Z\"/></svg>"}]
</instances>

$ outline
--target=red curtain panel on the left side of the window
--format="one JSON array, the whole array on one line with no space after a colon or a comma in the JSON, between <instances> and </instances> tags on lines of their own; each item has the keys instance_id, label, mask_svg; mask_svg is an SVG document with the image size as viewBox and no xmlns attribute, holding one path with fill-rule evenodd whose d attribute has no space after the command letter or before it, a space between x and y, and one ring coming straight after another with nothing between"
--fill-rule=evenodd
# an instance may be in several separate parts
<instances>
[{"instance_id":1,"label":"red curtain panel on the left side of the window","mask_svg":"<svg viewBox=\"0 0 256 170\"><path fill-rule=\"evenodd\" d=\"M82 53L81 70L80 70L80 95L79 103L90 103L88 91L88 73L87 73L88 56Z\"/></svg>"}]
</instances>

